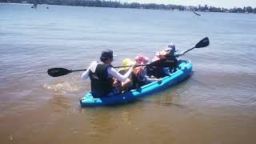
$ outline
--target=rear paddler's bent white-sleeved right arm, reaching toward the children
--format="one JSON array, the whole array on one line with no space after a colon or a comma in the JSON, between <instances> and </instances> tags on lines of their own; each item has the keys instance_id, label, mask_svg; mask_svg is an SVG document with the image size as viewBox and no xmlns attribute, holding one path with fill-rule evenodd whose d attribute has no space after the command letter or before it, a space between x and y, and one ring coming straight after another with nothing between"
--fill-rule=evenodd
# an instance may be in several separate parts
<instances>
[{"instance_id":1,"label":"rear paddler's bent white-sleeved right arm, reaching toward the children","mask_svg":"<svg viewBox=\"0 0 256 144\"><path fill-rule=\"evenodd\" d=\"M130 67L130 70L128 70L126 72L126 74L122 75L122 74L119 74L116 70L114 70L113 67L108 67L107 68L107 72L108 74L110 74L110 76L116 78L118 81L120 82L125 82L127 78L129 78L130 76L130 73L134 70L134 66L131 66Z\"/></svg>"}]
</instances>

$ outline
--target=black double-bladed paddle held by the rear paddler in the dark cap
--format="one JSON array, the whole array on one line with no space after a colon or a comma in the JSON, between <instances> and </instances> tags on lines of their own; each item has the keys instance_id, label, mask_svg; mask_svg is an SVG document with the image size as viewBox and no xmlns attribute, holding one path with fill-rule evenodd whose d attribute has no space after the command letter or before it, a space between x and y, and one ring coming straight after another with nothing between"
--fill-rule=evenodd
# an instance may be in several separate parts
<instances>
[{"instance_id":1,"label":"black double-bladed paddle held by the rear paddler in the dark cap","mask_svg":"<svg viewBox=\"0 0 256 144\"><path fill-rule=\"evenodd\" d=\"M158 60L155 62L152 62L150 64L146 64L146 65L137 65L137 66L158 66L158 67L163 67L163 66L169 66L170 65L170 61L162 61L162 60ZM130 66L115 66L114 68L121 68L121 67L130 67ZM66 74L70 74L72 72L75 71L85 71L86 69L82 69L82 70L67 70L65 68L51 68L49 70L47 70L47 73L52 76L52 77L59 77L62 75L66 75Z\"/></svg>"}]
</instances>

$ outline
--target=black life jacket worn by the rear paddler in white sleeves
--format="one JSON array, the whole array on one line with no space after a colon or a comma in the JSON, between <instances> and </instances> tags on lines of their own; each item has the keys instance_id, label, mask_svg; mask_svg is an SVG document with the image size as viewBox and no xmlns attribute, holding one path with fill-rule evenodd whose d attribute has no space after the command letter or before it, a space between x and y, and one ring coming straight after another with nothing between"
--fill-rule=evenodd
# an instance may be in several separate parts
<instances>
[{"instance_id":1,"label":"black life jacket worn by the rear paddler in white sleeves","mask_svg":"<svg viewBox=\"0 0 256 144\"><path fill-rule=\"evenodd\" d=\"M113 90L113 78L108 77L107 68L111 65L98 63L95 72L90 70L90 87L94 98L101 98Z\"/></svg>"}]
</instances>

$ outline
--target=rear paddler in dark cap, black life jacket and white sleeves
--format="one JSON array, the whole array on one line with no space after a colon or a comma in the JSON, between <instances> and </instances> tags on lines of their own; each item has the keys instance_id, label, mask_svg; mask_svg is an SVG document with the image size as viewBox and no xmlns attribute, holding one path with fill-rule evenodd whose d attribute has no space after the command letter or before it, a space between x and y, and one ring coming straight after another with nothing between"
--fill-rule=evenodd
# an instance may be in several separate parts
<instances>
[{"instance_id":1,"label":"rear paddler in dark cap, black life jacket and white sleeves","mask_svg":"<svg viewBox=\"0 0 256 144\"><path fill-rule=\"evenodd\" d=\"M111 65L114 61L112 50L103 50L100 60L101 62L91 62L88 69L81 76L82 79L90 77L91 93L94 98L110 96L126 90L130 86L129 76L135 65L131 66L126 74L122 75L114 70Z\"/></svg>"}]
</instances>

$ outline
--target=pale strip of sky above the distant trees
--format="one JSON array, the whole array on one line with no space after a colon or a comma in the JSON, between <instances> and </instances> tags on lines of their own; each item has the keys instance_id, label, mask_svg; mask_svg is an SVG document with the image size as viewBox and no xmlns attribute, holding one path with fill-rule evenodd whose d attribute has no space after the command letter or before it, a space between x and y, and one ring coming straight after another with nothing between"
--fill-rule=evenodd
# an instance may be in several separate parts
<instances>
[{"instance_id":1,"label":"pale strip of sky above the distant trees","mask_svg":"<svg viewBox=\"0 0 256 144\"><path fill-rule=\"evenodd\" d=\"M252 6L256 7L256 0L120 0L121 2L139 2L139 3L162 3L162 4L176 4L183 6L216 6L233 8L234 6Z\"/></svg>"}]
</instances>

